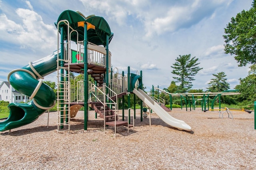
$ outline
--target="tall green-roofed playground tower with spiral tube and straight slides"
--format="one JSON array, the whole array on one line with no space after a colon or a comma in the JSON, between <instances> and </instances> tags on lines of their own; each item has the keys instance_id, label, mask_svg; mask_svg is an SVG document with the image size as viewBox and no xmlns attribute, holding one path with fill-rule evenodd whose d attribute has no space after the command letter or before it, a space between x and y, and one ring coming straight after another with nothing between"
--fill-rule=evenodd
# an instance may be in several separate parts
<instances>
[{"instance_id":1,"label":"tall green-roofed playground tower with spiral tube and straight slides","mask_svg":"<svg viewBox=\"0 0 256 170\"><path fill-rule=\"evenodd\" d=\"M0 122L0 131L11 130L35 121L41 114L57 104L57 131L70 132L70 118L84 107L84 130L87 130L89 107L94 109L95 117L103 118L104 132L106 125L134 126L130 124L130 95L136 94L164 122L179 130L191 131L191 127L182 120L170 116L159 104L150 98L142 88L142 71L140 75L124 75L111 68L111 52L108 49L113 33L104 18L90 15L85 17L81 12L65 10L58 17L55 26L58 30L58 46L52 55L36 62L29 62L21 69L8 74L8 81L14 89L30 96L28 104L11 103L10 115ZM75 49L75 50L74 50ZM57 96L54 91L42 82L44 76L57 71ZM70 83L70 72L83 74L84 80ZM94 82L88 81L88 75ZM39 80L40 79L40 80ZM38 81L39 80L39 81ZM124 101L128 96L128 120L118 120L118 98ZM55 101L57 101L55 103ZM122 107L124 109L124 105ZM134 110L135 116L135 110ZM134 118L133 116L133 118Z\"/></svg>"}]
</instances>

